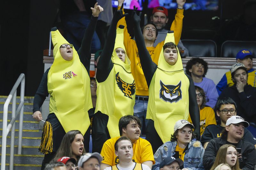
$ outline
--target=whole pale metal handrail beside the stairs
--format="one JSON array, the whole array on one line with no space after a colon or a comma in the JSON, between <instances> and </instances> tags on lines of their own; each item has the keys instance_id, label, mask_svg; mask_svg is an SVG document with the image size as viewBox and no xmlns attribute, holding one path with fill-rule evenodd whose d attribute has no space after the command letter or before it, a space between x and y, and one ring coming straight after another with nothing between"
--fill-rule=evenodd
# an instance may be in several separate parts
<instances>
[{"instance_id":1,"label":"whole pale metal handrail beside the stairs","mask_svg":"<svg viewBox=\"0 0 256 170\"><path fill-rule=\"evenodd\" d=\"M16 96L17 88L20 85L20 104L16 109ZM13 170L13 158L14 158L14 138L15 138L15 118L20 112L20 123L19 123L19 142L18 142L18 154L21 154L21 143L22 143L22 126L23 126L23 105L24 105L24 92L25 92L25 74L21 73L16 83L12 87L12 90L4 103L4 114L3 114L3 136L2 136L2 160L1 170L5 170L5 159L6 159L6 139L11 129L11 151L10 151L10 170ZM12 99L12 119L7 126L7 114L8 106Z\"/></svg>"}]
</instances>

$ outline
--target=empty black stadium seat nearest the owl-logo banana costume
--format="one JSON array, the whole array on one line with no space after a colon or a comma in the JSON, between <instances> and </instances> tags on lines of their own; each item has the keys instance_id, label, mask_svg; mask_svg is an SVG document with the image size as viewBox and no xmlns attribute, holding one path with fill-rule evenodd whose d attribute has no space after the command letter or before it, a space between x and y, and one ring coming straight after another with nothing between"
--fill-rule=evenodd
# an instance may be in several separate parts
<instances>
[{"instance_id":1,"label":"empty black stadium seat nearest the owl-logo banana costume","mask_svg":"<svg viewBox=\"0 0 256 170\"><path fill-rule=\"evenodd\" d=\"M217 46L212 40L182 40L192 57L216 57Z\"/></svg>"}]
</instances>

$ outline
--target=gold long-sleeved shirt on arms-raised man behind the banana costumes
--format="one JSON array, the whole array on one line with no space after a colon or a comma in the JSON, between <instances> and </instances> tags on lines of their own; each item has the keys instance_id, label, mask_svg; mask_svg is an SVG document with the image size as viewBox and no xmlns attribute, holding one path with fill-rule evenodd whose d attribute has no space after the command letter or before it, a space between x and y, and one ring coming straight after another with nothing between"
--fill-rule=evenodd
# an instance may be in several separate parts
<instances>
[{"instance_id":1,"label":"gold long-sleeved shirt on arms-raised man behind the banana costumes","mask_svg":"<svg viewBox=\"0 0 256 170\"><path fill-rule=\"evenodd\" d=\"M120 9L120 7L118 7ZM174 31L175 44L177 45L180 41L181 30L182 30L182 20L183 20L183 11L184 9L177 9L175 15L175 20L172 22L170 30ZM119 20L117 27L119 25L124 25L124 46L131 60L131 70L136 83L136 95L148 96L148 85L146 78L141 68L139 52L135 40L131 39L130 34L127 31L127 25L125 22L125 17ZM173 41L174 42L174 41ZM158 43L156 47L146 47L152 58L152 61L158 64L158 58L161 53L161 50L164 46L164 41Z\"/></svg>"}]
</instances>

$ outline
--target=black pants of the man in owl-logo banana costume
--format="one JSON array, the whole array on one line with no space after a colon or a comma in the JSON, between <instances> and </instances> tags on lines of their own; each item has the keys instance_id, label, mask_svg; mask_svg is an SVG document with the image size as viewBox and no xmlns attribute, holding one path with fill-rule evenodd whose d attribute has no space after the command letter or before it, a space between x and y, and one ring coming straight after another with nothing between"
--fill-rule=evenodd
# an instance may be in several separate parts
<instances>
[{"instance_id":1,"label":"black pants of the man in owl-logo banana costume","mask_svg":"<svg viewBox=\"0 0 256 170\"><path fill-rule=\"evenodd\" d=\"M156 150L162 146L164 143L156 132L154 121L148 119L148 125L146 130L146 140L151 144L153 149L153 154L156 153Z\"/></svg>"}]
</instances>

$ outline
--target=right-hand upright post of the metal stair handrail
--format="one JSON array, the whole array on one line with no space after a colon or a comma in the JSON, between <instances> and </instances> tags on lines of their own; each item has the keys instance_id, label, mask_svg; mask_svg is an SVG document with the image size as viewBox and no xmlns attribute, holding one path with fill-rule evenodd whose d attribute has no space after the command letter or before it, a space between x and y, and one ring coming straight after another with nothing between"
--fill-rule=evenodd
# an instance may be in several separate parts
<instances>
[{"instance_id":1,"label":"right-hand upright post of the metal stair handrail","mask_svg":"<svg viewBox=\"0 0 256 170\"><path fill-rule=\"evenodd\" d=\"M20 84L20 103L24 103L24 95L25 95L25 76L24 78L22 78L21 84ZM20 109L18 154L21 154L21 149L22 149L23 107L24 105L22 105Z\"/></svg>"}]
</instances>

